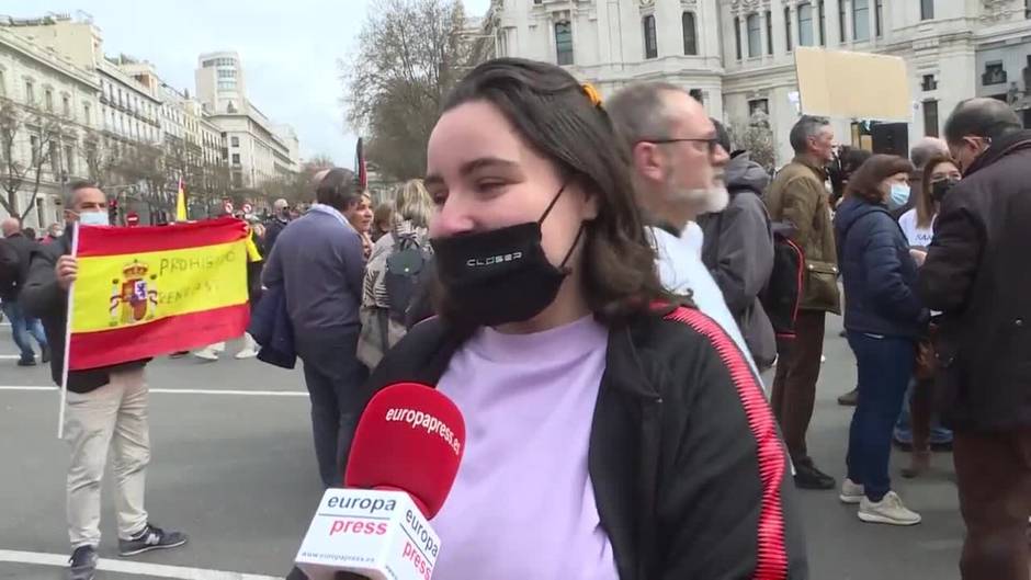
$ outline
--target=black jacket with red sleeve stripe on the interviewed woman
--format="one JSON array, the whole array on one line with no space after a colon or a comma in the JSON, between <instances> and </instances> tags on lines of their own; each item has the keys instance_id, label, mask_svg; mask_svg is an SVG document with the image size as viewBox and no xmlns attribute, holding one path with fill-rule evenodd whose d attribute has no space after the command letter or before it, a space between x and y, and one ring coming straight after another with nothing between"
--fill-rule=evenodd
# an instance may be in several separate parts
<instances>
[{"instance_id":1,"label":"black jacket with red sleeve stripe on the interviewed woman","mask_svg":"<svg viewBox=\"0 0 1031 580\"><path fill-rule=\"evenodd\" d=\"M365 395L435 385L461 343L440 319L417 325ZM588 453L621 580L808 577L773 414L740 350L698 310L610 329Z\"/></svg>"}]
</instances>

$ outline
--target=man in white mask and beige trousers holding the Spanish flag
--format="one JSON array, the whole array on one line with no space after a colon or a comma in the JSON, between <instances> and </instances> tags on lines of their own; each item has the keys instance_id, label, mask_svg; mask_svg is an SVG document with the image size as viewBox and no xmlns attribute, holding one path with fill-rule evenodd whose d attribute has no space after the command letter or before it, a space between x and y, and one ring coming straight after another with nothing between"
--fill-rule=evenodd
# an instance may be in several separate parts
<instances>
[{"instance_id":1,"label":"man in white mask and beige trousers holding the Spanish flag","mask_svg":"<svg viewBox=\"0 0 1031 580\"><path fill-rule=\"evenodd\" d=\"M50 372L60 385L68 326L68 292L78 277L72 253L73 225L106 226L107 198L89 182L73 182L65 200L68 230L33 253L22 300L43 319L53 345ZM147 360L68 371L65 440L71 445L67 516L71 541L70 580L91 580L100 544L100 490L109 450L114 456L118 554L134 556L186 543L180 532L151 525L144 509L150 440L147 422Z\"/></svg>"}]
</instances>

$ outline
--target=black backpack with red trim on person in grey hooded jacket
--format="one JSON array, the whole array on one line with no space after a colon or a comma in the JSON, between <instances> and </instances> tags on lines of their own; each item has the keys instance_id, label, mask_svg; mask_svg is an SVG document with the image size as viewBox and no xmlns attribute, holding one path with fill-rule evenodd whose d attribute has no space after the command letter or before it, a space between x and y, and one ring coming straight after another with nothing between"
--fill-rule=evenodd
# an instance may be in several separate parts
<instances>
[{"instance_id":1,"label":"black backpack with red trim on person in grey hooded jacket","mask_svg":"<svg viewBox=\"0 0 1031 580\"><path fill-rule=\"evenodd\" d=\"M802 285L805 273L805 252L791 241L794 226L773 223L773 272L762 292L759 302L766 310L773 332L779 339L795 337L795 320L802 303Z\"/></svg>"}]
</instances>

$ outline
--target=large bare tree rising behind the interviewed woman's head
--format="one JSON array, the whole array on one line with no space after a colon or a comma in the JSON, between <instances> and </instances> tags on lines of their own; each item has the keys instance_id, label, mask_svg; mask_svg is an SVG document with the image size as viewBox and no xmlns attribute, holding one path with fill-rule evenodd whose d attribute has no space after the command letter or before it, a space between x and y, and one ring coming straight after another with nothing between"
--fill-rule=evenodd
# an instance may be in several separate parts
<instances>
[{"instance_id":1,"label":"large bare tree rising behind the interviewed woman's head","mask_svg":"<svg viewBox=\"0 0 1031 580\"><path fill-rule=\"evenodd\" d=\"M341 61L348 121L367 156L396 179L421 175L444 96L469 66L460 0L379 0L359 49Z\"/></svg>"}]
</instances>

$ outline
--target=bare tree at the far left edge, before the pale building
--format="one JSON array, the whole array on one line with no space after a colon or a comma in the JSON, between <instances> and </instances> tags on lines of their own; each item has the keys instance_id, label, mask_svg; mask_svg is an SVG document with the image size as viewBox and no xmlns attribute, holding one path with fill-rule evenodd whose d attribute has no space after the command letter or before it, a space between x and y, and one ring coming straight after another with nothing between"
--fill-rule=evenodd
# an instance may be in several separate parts
<instances>
[{"instance_id":1,"label":"bare tree at the far left edge, before the pale building","mask_svg":"<svg viewBox=\"0 0 1031 580\"><path fill-rule=\"evenodd\" d=\"M49 164L54 181L61 180L60 147L63 139L75 141L71 124L36 109L0 99L0 206L19 221L36 205L44 168ZM27 155L21 155L27 150ZM20 193L29 193L22 207Z\"/></svg>"}]
</instances>

